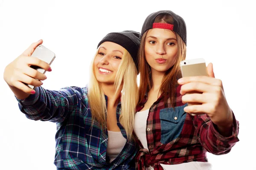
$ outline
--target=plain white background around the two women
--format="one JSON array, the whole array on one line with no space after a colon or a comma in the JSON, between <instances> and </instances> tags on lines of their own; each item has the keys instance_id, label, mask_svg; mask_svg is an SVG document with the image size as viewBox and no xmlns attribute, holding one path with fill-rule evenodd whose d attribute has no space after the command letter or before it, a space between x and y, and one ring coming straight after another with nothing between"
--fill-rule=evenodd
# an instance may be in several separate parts
<instances>
[{"instance_id":1,"label":"plain white background around the two women","mask_svg":"<svg viewBox=\"0 0 256 170\"><path fill-rule=\"evenodd\" d=\"M255 165L256 13L252 1L0 0L0 70L32 42L55 52L44 88L84 86L98 42L112 31L141 30L145 17L172 10L187 25L187 59L212 62L227 101L240 122L230 153L208 153L215 170L252 170ZM56 127L26 119L0 79L0 169L55 170Z\"/></svg>"}]
</instances>

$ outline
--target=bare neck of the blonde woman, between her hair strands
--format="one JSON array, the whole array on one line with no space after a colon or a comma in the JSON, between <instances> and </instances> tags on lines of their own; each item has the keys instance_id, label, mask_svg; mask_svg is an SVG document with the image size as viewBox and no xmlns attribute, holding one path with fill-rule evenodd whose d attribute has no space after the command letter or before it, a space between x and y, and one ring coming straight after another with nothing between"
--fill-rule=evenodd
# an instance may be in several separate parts
<instances>
[{"instance_id":1,"label":"bare neck of the blonde woman, between her hair strands","mask_svg":"<svg viewBox=\"0 0 256 170\"><path fill-rule=\"evenodd\" d=\"M114 84L101 84L102 90L106 96L108 96L108 105L117 105L119 102L119 96L122 88L119 88L117 93L115 91Z\"/></svg>"}]
</instances>

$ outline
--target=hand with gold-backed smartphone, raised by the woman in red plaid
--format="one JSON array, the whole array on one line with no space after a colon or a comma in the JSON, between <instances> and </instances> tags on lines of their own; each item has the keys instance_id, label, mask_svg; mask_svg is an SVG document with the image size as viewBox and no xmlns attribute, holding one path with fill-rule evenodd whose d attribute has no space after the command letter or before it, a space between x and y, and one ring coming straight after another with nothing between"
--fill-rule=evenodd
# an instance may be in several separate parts
<instances>
[{"instance_id":1,"label":"hand with gold-backed smartphone, raised by the woman in red plaid","mask_svg":"<svg viewBox=\"0 0 256 170\"><path fill-rule=\"evenodd\" d=\"M207 114L221 133L232 132L233 112L227 103L222 81L215 78L212 63L206 67L203 59L193 59L182 61L180 66L183 78L178 84L182 85L180 94L185 94L182 102L190 104L184 111L192 116Z\"/></svg>"}]
</instances>

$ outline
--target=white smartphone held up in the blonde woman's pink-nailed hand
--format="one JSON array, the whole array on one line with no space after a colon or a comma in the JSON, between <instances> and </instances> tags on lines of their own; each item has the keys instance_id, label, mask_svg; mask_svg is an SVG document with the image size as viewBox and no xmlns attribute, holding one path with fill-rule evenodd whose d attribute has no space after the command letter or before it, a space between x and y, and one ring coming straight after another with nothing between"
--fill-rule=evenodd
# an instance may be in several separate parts
<instances>
[{"instance_id":1,"label":"white smartphone held up in the blonde woman's pink-nailed hand","mask_svg":"<svg viewBox=\"0 0 256 170\"><path fill-rule=\"evenodd\" d=\"M55 59L55 54L50 51L48 48L44 47L44 45L38 45L35 48L35 51L31 55L31 57L37 57L38 59L41 59L44 62L47 62L49 65L52 64L53 60ZM35 70L39 71L42 74L45 74L45 70L43 68L40 68L38 66L32 65L31 68L34 68ZM29 88L35 89L35 86L28 85Z\"/></svg>"}]
</instances>

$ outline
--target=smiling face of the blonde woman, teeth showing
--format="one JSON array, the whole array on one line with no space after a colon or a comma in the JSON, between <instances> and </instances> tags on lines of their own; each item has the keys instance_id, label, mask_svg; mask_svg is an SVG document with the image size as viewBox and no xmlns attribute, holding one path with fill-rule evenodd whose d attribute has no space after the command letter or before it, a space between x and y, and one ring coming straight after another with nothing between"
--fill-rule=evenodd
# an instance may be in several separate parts
<instances>
[{"instance_id":1,"label":"smiling face of the blonde woman, teeth showing","mask_svg":"<svg viewBox=\"0 0 256 170\"><path fill-rule=\"evenodd\" d=\"M94 59L94 74L99 82L113 84L125 48L114 42L103 42Z\"/></svg>"}]
</instances>

